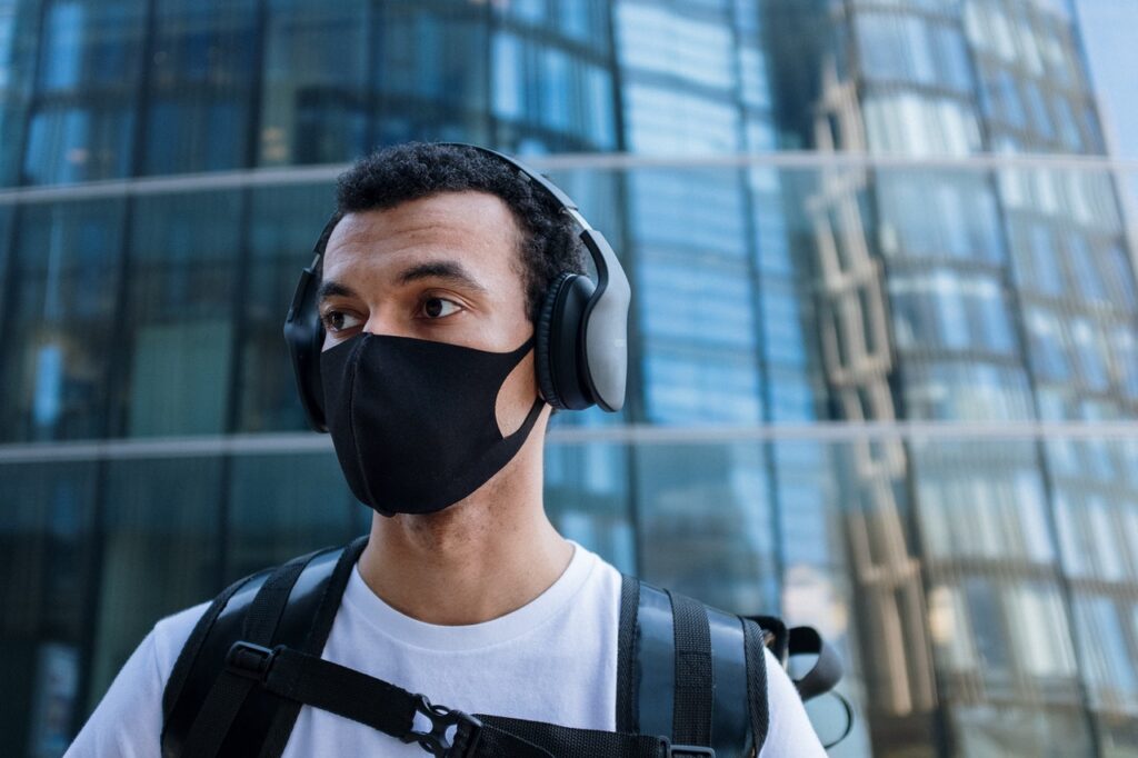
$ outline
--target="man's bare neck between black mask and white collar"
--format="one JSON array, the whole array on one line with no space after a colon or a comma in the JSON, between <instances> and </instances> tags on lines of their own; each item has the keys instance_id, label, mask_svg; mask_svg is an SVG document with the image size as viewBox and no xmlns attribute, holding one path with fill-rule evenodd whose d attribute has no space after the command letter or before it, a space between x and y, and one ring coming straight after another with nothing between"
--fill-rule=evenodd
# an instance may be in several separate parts
<instances>
[{"instance_id":1,"label":"man's bare neck between black mask and white collar","mask_svg":"<svg viewBox=\"0 0 1138 758\"><path fill-rule=\"evenodd\" d=\"M541 437L469 497L437 513L372 518L364 582L429 624L488 621L521 608L564 571L572 546L542 503ZM528 453L528 454L527 454Z\"/></svg>"}]
</instances>

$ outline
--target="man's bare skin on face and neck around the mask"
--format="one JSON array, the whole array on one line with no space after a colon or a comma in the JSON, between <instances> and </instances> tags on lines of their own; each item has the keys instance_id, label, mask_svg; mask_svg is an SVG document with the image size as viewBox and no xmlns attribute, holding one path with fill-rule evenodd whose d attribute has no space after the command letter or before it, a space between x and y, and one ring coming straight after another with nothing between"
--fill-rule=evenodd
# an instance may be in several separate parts
<instances>
[{"instance_id":1,"label":"man's bare skin on face and neck around the mask","mask_svg":"<svg viewBox=\"0 0 1138 758\"><path fill-rule=\"evenodd\" d=\"M534 332L520 234L505 203L479 191L345 215L324 254L324 349L361 331L517 349ZM498 394L502 434L521 426L537 395L530 351ZM360 557L372 592L412 618L459 625L509 613L556 582L572 545L542 499L549 418L546 405L517 456L459 503L426 516L376 513Z\"/></svg>"}]
</instances>

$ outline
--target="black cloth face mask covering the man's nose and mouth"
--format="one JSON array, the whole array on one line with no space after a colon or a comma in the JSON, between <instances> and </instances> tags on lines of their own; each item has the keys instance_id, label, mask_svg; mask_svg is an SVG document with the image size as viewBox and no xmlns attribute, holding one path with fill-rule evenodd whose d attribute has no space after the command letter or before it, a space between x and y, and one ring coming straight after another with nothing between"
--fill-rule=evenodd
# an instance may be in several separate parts
<instances>
[{"instance_id":1,"label":"black cloth face mask covering the man's nose and mouth","mask_svg":"<svg viewBox=\"0 0 1138 758\"><path fill-rule=\"evenodd\" d=\"M432 513L481 487L529 436L542 399L503 437L498 390L529 352L488 353L361 333L320 355L324 409L353 494L384 516Z\"/></svg>"}]
</instances>

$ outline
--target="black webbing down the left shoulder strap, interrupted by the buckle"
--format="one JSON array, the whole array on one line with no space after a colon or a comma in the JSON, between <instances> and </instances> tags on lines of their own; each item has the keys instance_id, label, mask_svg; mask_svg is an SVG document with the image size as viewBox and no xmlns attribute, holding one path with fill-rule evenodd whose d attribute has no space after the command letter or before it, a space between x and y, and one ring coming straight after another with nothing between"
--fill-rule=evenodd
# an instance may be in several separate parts
<instances>
[{"instance_id":1,"label":"black webbing down the left shoulder strap, interrupted by the buckle","mask_svg":"<svg viewBox=\"0 0 1138 758\"><path fill-rule=\"evenodd\" d=\"M284 607L288 603L289 593L297 577L320 552L316 551L294 558L289 562L278 568L265 580L257 592L253 605L242 624L242 638L255 645L271 645L273 634L277 632L277 624L280 621ZM212 758L217 755L222 742L229 734L229 728L233 724L241 705L245 702L249 691L253 690L255 681L245 676L239 676L226 668L209 689L201 709L198 711L193 726L190 727L185 738L183 755L193 758Z\"/></svg>"}]
</instances>

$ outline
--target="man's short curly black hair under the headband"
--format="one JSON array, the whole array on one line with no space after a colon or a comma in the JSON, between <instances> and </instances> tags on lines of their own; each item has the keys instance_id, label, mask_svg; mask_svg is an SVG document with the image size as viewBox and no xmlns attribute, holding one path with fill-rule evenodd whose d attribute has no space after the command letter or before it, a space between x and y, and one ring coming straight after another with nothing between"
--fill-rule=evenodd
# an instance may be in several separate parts
<instances>
[{"instance_id":1,"label":"man's short curly black hair under the headband","mask_svg":"<svg viewBox=\"0 0 1138 758\"><path fill-rule=\"evenodd\" d=\"M504 160L460 145L395 145L361 158L339 175L336 205L344 215L471 190L497 196L513 213L521 231L518 272L526 312L536 323L551 283L564 271L584 273L582 245L572 221Z\"/></svg>"}]
</instances>

